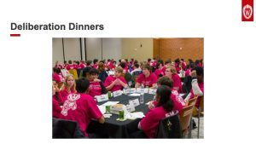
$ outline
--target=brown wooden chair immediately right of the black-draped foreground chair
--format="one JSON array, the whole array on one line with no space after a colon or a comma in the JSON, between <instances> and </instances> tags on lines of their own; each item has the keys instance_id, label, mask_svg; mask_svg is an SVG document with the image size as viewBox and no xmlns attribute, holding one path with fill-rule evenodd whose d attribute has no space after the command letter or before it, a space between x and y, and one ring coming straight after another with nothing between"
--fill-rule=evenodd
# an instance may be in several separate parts
<instances>
[{"instance_id":1,"label":"brown wooden chair immediately right of the black-draped foreground chair","mask_svg":"<svg viewBox=\"0 0 256 144\"><path fill-rule=\"evenodd\" d=\"M186 135L188 133L193 108L194 108L193 105L183 107L183 111L180 114L180 124L181 124L181 127L182 127L183 137L184 137L184 135Z\"/></svg>"}]
</instances>

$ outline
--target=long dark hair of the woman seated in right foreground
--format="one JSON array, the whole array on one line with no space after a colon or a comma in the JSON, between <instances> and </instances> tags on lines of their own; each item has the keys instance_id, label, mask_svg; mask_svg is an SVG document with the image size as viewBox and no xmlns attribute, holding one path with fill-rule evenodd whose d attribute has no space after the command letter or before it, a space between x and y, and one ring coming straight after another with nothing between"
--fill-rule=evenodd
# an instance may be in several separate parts
<instances>
[{"instance_id":1,"label":"long dark hair of the woman seated in right foreground","mask_svg":"<svg viewBox=\"0 0 256 144\"><path fill-rule=\"evenodd\" d=\"M172 91L169 87L166 85L160 85L158 89L156 90L156 95L160 96L160 101L157 105L157 107L164 107L166 112L171 112L173 108L173 102L171 99Z\"/></svg>"}]
</instances>

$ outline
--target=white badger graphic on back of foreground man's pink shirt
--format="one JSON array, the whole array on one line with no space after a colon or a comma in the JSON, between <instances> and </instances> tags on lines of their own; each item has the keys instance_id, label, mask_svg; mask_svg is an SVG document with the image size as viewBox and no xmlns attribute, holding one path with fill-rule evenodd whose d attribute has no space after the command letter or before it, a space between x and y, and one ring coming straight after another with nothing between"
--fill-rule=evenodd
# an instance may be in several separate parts
<instances>
[{"instance_id":1,"label":"white badger graphic on back of foreground man's pink shirt","mask_svg":"<svg viewBox=\"0 0 256 144\"><path fill-rule=\"evenodd\" d=\"M78 95L78 94L69 94L67 96L67 100L63 104L61 114L64 116L67 116L67 111L69 109L72 109L72 110L77 109L76 101L79 100L79 98L80 98L80 95Z\"/></svg>"}]
</instances>

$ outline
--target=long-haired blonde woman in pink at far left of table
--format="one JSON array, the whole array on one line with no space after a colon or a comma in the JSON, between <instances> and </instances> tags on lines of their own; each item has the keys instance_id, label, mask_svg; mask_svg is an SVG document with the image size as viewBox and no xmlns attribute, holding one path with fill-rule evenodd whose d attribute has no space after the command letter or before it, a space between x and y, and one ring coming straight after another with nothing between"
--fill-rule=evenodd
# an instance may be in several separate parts
<instances>
[{"instance_id":1,"label":"long-haired blonde woman in pink at far left of table","mask_svg":"<svg viewBox=\"0 0 256 144\"><path fill-rule=\"evenodd\" d=\"M60 95L63 101L67 100L67 95L76 93L76 84L72 74L66 76L63 86L60 90Z\"/></svg>"}]
</instances>

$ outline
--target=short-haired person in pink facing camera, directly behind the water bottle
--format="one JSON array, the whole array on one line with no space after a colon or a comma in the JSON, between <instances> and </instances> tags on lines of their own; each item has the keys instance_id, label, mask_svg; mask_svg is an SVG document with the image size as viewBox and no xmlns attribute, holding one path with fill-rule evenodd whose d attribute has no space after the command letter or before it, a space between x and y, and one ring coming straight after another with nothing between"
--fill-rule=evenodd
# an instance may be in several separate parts
<instances>
[{"instance_id":1,"label":"short-haired person in pink facing camera, directly behind the water bottle","mask_svg":"<svg viewBox=\"0 0 256 144\"><path fill-rule=\"evenodd\" d=\"M153 72L151 72L151 66L148 64L143 66L143 73L139 75L137 78L137 84L135 85L136 88L139 88L142 84L145 87L156 88L157 84L157 77Z\"/></svg>"}]
</instances>

